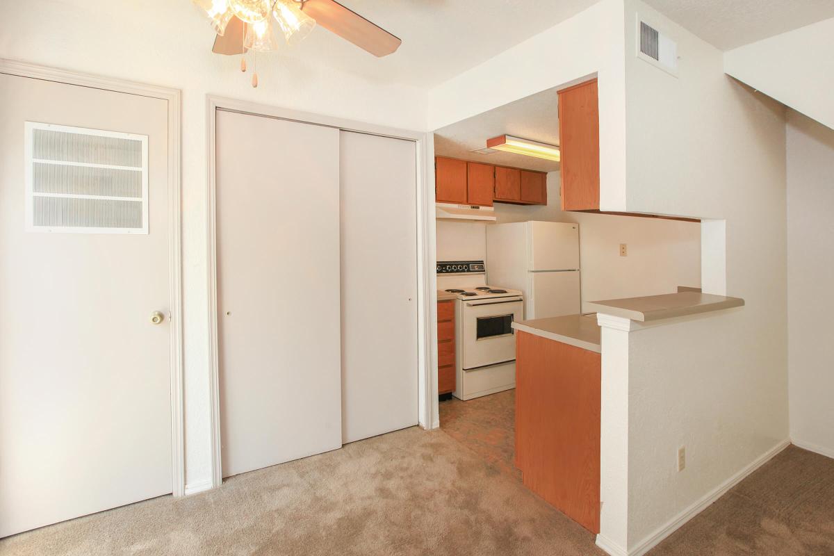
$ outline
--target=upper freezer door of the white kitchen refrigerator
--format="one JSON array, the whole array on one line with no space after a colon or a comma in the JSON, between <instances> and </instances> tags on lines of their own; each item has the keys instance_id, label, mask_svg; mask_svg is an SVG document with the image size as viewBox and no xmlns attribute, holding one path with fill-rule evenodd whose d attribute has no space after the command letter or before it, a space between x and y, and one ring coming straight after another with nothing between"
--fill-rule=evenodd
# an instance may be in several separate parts
<instances>
[{"instance_id":1,"label":"upper freezer door of the white kitchen refrigerator","mask_svg":"<svg viewBox=\"0 0 834 556\"><path fill-rule=\"evenodd\" d=\"M529 222L527 270L579 268L579 224Z\"/></svg>"}]
</instances>

